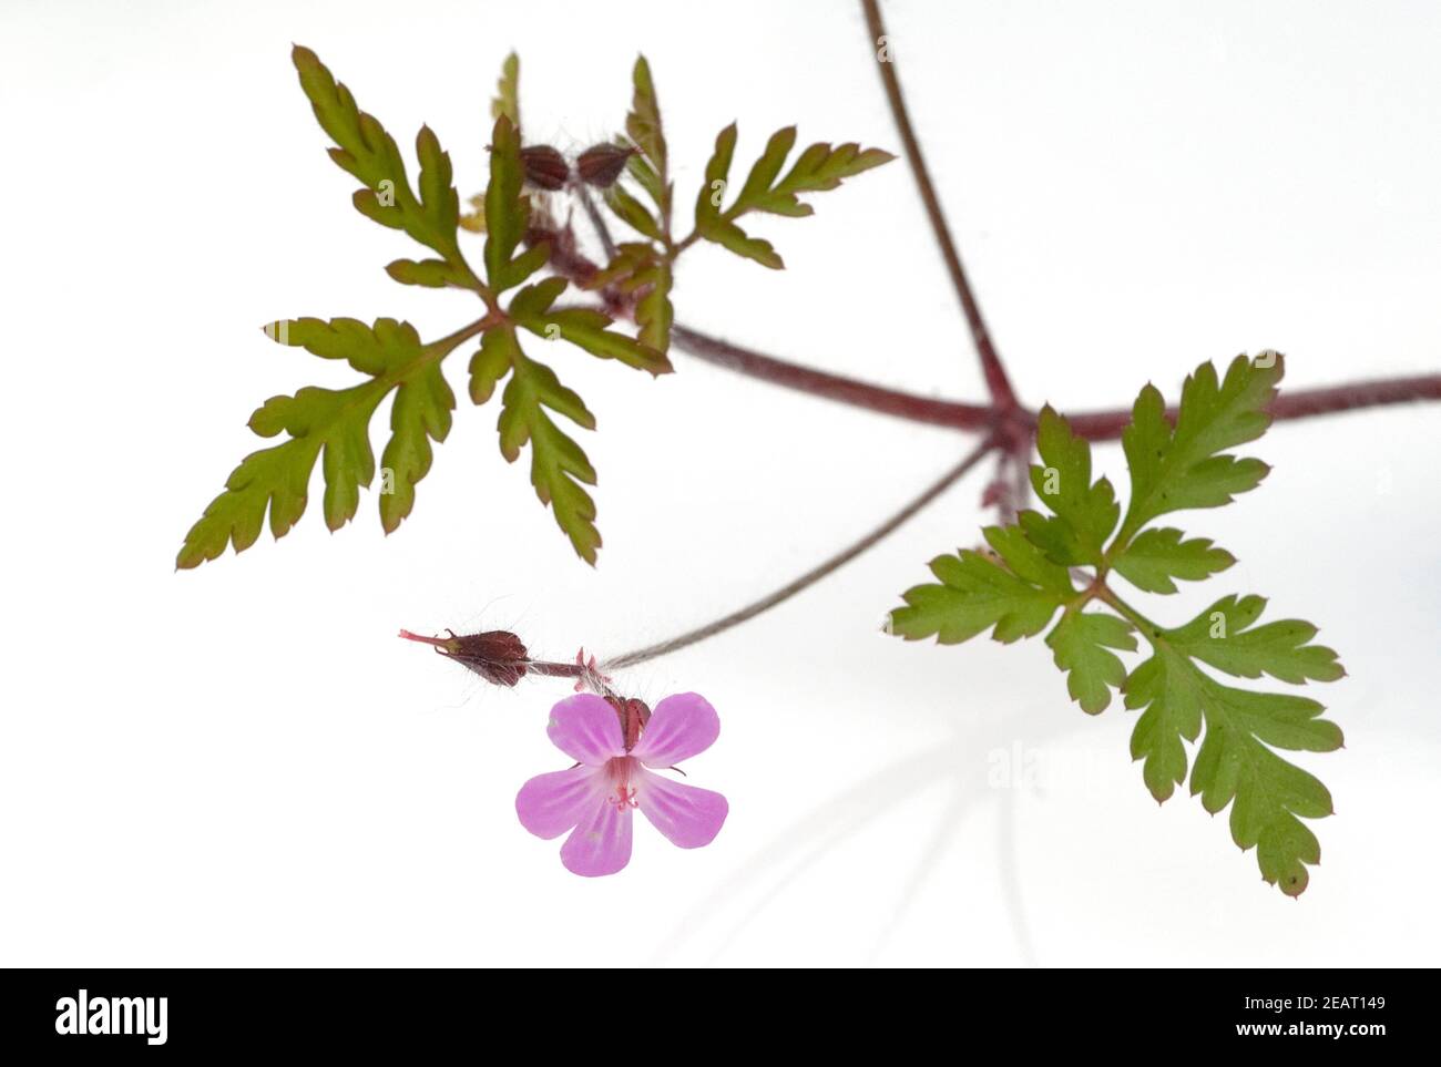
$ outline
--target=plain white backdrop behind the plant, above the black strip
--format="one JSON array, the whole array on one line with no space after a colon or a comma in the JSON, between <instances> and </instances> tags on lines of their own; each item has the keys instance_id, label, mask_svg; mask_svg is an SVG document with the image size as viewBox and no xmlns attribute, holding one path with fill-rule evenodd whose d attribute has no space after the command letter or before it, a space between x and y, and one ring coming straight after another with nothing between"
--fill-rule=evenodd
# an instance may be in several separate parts
<instances>
[{"instance_id":1,"label":"plain white backdrop behind the plant, above the black strip","mask_svg":"<svg viewBox=\"0 0 1441 1067\"><path fill-rule=\"evenodd\" d=\"M967 265L1027 403L1170 396L1277 347L1287 384L1441 367L1441 9L1427 3L896 3L892 48ZM1323 628L1343 752L1324 864L1293 903L1179 795L1147 795L1134 713L1084 716L1039 641L904 645L882 612L971 544L973 475L784 608L618 680L697 690L719 743L716 842L646 825L581 880L513 798L563 766L563 685L497 691L421 631L516 628L540 655L669 636L791 579L968 441L676 356L644 374L561 351L599 418L597 570L571 553L496 410L464 399L414 517L375 497L330 536L173 573L256 446L265 397L352 380L271 344L298 315L474 317L398 287L415 255L349 206L291 42L409 153L429 122L463 194L487 101L523 60L527 140L614 134L651 60L677 200L739 120L899 150L850 3L26 3L0 16L7 196L0 962L6 965L1435 963L1441 445L1435 406L1290 423L1264 487L1185 516L1241 563L1223 592ZM788 269L687 253L680 321L814 366L978 399L904 163L765 219ZM478 239L473 246L478 256ZM376 448L383 425L378 418ZM1120 451L1098 461L1124 485ZM1012 788L989 775L1019 752ZM1026 769L1030 769L1026 773Z\"/></svg>"}]
</instances>

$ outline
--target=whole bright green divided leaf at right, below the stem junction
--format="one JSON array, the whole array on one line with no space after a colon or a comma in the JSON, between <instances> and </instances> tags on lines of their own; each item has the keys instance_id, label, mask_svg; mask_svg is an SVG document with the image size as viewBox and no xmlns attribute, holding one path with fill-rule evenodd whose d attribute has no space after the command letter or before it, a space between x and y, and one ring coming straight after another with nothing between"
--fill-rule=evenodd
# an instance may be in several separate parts
<instances>
[{"instance_id":1,"label":"whole bright green divided leaf at right, below the stem junction","mask_svg":"<svg viewBox=\"0 0 1441 1067\"><path fill-rule=\"evenodd\" d=\"M1045 639L1071 697L1095 714L1118 691L1127 708L1141 711L1131 756L1141 760L1151 795L1164 802L1189 770L1190 792L1206 811L1231 808L1232 839L1257 850L1262 877L1297 896L1307 887L1307 867L1320 861L1320 844L1303 819L1330 815L1331 798L1277 750L1331 752L1342 731L1320 717L1314 700L1235 688L1205 668L1291 684L1334 681L1344 675L1336 652L1311 644L1316 626L1308 622L1257 625L1265 606L1259 596L1225 596L1190 622L1163 628L1107 583L1118 573L1146 592L1174 593L1176 579L1205 580L1235 563L1206 539L1185 540L1180 530L1147 524L1219 507L1255 488L1265 464L1229 449L1265 431L1265 408L1282 372L1275 353L1236 357L1223 379L1202 364L1186 380L1174 423L1160 393L1146 386L1123 436L1131 500L1120 528L1111 484L1091 480L1089 444L1046 408L1032 485L1049 514L1023 511L1014 526L987 528L994 559L963 550L932 560L940 583L908 590L891 625L912 641L955 644L993 628L997 641L1012 642L1039 634L1059 611ZM1085 580L1074 582L1078 573ZM1150 657L1127 671L1115 652L1136 651L1134 634L1150 645ZM1190 760L1187 744L1197 740Z\"/></svg>"}]
</instances>

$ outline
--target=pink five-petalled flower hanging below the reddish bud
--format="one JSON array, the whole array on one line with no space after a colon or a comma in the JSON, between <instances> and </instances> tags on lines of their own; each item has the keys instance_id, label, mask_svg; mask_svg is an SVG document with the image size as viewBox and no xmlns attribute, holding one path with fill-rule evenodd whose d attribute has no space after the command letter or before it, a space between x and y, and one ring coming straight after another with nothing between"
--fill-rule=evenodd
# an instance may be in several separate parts
<instances>
[{"instance_id":1,"label":"pink five-petalled flower hanging below the reddish bud","mask_svg":"<svg viewBox=\"0 0 1441 1067\"><path fill-rule=\"evenodd\" d=\"M624 704L644 708L640 701ZM644 714L638 721L627 714L623 730L621 713L591 693L550 708L546 733L576 766L526 782L516 795L516 814L536 837L571 832L561 845L568 871L597 877L628 864L635 808L682 848L709 845L720 832L731 809L720 793L647 770L674 767L709 749L720 734L716 710L696 693L679 693L656 704L643 730L640 721Z\"/></svg>"}]
</instances>

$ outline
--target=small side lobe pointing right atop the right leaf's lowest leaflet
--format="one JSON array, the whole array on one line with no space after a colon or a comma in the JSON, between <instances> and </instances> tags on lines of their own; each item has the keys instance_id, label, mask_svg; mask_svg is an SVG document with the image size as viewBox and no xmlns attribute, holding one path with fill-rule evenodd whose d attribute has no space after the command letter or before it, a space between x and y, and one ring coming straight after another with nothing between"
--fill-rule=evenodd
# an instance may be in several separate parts
<instances>
[{"instance_id":1,"label":"small side lobe pointing right atop the right leaf's lowest leaflet","mask_svg":"<svg viewBox=\"0 0 1441 1067\"><path fill-rule=\"evenodd\" d=\"M1316 626L1301 619L1280 619L1252 626L1265 609L1262 596L1223 596L1179 629L1170 644L1219 671L1238 678L1270 674L1293 685L1336 681L1346 670L1336 652L1313 645Z\"/></svg>"}]
</instances>

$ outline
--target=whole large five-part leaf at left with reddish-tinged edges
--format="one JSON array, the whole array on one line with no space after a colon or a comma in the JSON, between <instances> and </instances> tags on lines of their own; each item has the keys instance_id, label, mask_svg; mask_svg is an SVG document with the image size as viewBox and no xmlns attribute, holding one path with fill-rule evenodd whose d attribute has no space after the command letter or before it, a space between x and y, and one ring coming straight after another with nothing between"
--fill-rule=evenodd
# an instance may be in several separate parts
<instances>
[{"instance_id":1,"label":"whole large five-part leaf at left with reddish-tinged edges","mask_svg":"<svg viewBox=\"0 0 1441 1067\"><path fill-rule=\"evenodd\" d=\"M585 308L552 310L566 282L550 278L522 289L507 311L499 295L523 285L545 266L545 246L522 249L529 202L522 193L519 121L519 60L506 60L496 122L491 132L490 186L483 200L486 279L481 281L460 251L460 204L451 184L450 157L431 130L416 138L419 174L415 184L395 140L380 122L360 111L350 91L337 82L314 52L297 46L295 69L321 128L336 147L331 158L359 179L354 204L362 215L409 233L437 255L421 261L398 259L392 278L429 288L460 287L478 294L488 312L447 338L425 344L408 323L391 318L365 325L352 318L323 321L298 318L272 323L267 334L287 346L303 347L323 359L344 360L367 380L349 389L308 386L294 396L267 400L252 416L251 429L264 438L284 435L281 444L248 455L226 480L225 491L205 510L186 534L176 559L195 567L216 559L226 544L241 551L259 537L269 514L271 533L285 536L305 511L317 462L324 480L324 517L331 530L354 517L360 487L376 475L369 426L380 403L392 397L391 438L380 455L380 523L389 533L411 514L415 485L429 471L432 442L445 439L455 397L441 361L465 338L481 336L471 364L471 397L486 402L496 384L510 376L501 397L500 449L516 459L532 448L532 482L552 505L578 554L595 562L599 533L595 504L581 482L594 484L595 471L581 448L552 420L561 413L591 429L595 419L584 402L562 386L543 363L525 356L516 336L526 328L542 337L566 340L584 351L651 374L670 370L666 357L644 341L610 330L608 315ZM656 312L659 314L659 312ZM669 315L669 305L666 310ZM669 321L669 320L667 320Z\"/></svg>"}]
</instances>

